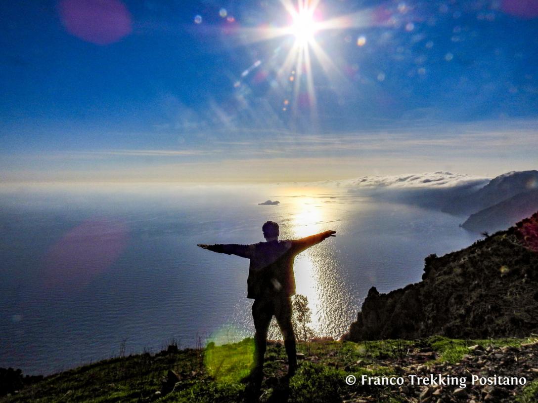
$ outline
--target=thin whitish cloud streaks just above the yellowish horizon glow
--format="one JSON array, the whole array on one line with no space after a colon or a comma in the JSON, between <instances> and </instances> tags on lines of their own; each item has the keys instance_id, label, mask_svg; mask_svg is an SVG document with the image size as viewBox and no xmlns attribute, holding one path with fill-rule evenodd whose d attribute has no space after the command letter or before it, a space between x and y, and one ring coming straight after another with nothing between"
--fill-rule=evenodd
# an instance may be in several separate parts
<instances>
[{"instance_id":1,"label":"thin whitish cloud streaks just above the yellowish horizon glow","mask_svg":"<svg viewBox=\"0 0 538 403\"><path fill-rule=\"evenodd\" d=\"M502 132L502 133L463 133L451 138L422 138L416 139L406 135L368 135L342 137L328 136L306 136L300 139L293 136L280 137L275 139L257 139L252 141L219 141L215 142L221 148L211 149L122 149L122 150L99 150L82 152L59 152L52 153L57 158L64 159L66 156L76 159L81 157L88 159L95 157L236 157L237 159L249 158L253 155L259 156L286 156L299 157L308 154L331 155L345 152L347 155L354 152L378 152L383 155L401 153L404 150L421 154L428 149L435 152L450 149L463 150L475 154L484 154L495 151L495 149L506 152L509 148L527 149L529 147L538 148L538 136L535 132ZM480 147L476 147L480 144ZM203 147L203 146L199 146Z\"/></svg>"}]
</instances>

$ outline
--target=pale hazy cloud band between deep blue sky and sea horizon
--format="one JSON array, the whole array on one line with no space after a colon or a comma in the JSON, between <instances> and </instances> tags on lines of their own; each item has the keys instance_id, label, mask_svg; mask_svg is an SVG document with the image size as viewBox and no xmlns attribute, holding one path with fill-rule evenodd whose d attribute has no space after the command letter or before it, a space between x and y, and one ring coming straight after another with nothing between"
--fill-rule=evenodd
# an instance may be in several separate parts
<instances>
[{"instance_id":1,"label":"pale hazy cloud band between deep blue sky and sea horizon","mask_svg":"<svg viewBox=\"0 0 538 403\"><path fill-rule=\"evenodd\" d=\"M486 122L324 135L222 129L177 148L4 154L0 170L4 181L293 182L440 170L491 177L536 168L535 127L530 121Z\"/></svg>"}]
</instances>

